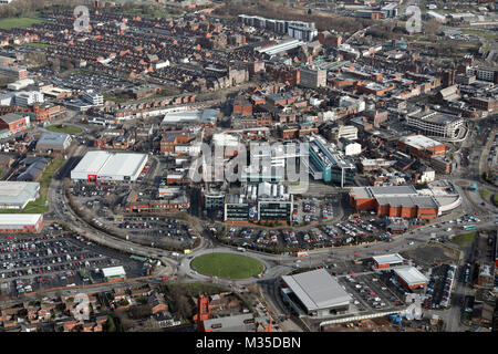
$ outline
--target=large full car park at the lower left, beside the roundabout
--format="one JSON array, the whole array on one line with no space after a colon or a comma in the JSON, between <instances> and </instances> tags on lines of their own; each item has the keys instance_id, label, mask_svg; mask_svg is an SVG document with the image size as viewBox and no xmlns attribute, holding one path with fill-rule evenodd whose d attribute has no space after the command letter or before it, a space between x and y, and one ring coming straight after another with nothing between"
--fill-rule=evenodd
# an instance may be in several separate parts
<instances>
[{"instance_id":1,"label":"large full car park at the lower left, beside the roundabout","mask_svg":"<svg viewBox=\"0 0 498 354\"><path fill-rule=\"evenodd\" d=\"M37 236L12 235L0 241L1 295L102 283L102 269L117 266L127 278L145 273L143 262L64 232L58 225Z\"/></svg>"}]
</instances>

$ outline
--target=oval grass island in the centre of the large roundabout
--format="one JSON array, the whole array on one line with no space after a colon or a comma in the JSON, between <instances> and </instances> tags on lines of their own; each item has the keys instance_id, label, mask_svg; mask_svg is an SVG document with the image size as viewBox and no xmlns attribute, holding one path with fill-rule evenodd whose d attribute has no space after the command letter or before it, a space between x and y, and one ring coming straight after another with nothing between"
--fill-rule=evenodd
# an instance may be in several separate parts
<instances>
[{"instance_id":1,"label":"oval grass island in the centre of the large roundabout","mask_svg":"<svg viewBox=\"0 0 498 354\"><path fill-rule=\"evenodd\" d=\"M246 279L263 271L260 261L234 253L208 253L197 257L191 266L199 273L228 279Z\"/></svg>"}]
</instances>

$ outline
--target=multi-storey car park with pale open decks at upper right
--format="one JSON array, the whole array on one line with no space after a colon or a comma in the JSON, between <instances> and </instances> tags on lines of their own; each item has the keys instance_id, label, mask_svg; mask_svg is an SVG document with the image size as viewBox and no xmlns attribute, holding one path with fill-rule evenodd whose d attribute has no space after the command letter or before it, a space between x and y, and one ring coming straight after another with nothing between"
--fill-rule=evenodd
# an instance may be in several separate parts
<instances>
[{"instance_id":1,"label":"multi-storey car park with pale open decks at upper right","mask_svg":"<svg viewBox=\"0 0 498 354\"><path fill-rule=\"evenodd\" d=\"M406 125L424 135L447 139L463 137L465 133L463 118L430 110L406 115Z\"/></svg>"}]
</instances>

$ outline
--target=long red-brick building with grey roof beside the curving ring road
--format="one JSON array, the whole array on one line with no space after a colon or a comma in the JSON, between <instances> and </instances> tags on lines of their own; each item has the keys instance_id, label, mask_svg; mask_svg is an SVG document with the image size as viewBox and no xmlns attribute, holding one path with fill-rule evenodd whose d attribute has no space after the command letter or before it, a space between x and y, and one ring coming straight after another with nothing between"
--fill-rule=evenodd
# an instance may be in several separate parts
<instances>
[{"instance_id":1,"label":"long red-brick building with grey roof beside the curving ring road","mask_svg":"<svg viewBox=\"0 0 498 354\"><path fill-rule=\"evenodd\" d=\"M413 186L353 187L350 202L356 210L375 210L377 216L435 219L439 202L419 195Z\"/></svg>"}]
</instances>

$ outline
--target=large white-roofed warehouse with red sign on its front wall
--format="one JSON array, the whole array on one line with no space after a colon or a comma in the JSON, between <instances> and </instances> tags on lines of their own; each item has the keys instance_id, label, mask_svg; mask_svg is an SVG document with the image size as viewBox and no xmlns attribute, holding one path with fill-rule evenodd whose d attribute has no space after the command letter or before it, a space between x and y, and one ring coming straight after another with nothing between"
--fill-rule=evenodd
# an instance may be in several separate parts
<instances>
[{"instance_id":1,"label":"large white-roofed warehouse with red sign on its front wall","mask_svg":"<svg viewBox=\"0 0 498 354\"><path fill-rule=\"evenodd\" d=\"M146 154L89 152L71 171L71 179L102 181L135 181L145 165Z\"/></svg>"}]
</instances>

